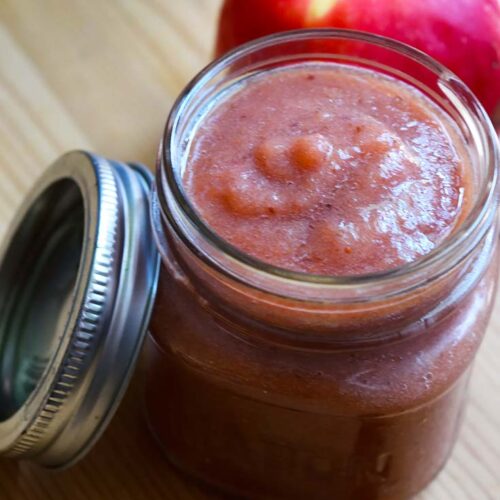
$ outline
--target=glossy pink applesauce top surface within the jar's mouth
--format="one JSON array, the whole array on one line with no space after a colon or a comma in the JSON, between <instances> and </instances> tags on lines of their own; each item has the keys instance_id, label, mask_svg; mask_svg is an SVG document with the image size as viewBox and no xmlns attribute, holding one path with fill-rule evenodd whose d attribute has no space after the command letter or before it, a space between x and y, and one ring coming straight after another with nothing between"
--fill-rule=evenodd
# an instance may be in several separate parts
<instances>
[{"instance_id":1,"label":"glossy pink applesauce top surface within the jar's mouth","mask_svg":"<svg viewBox=\"0 0 500 500\"><path fill-rule=\"evenodd\" d=\"M247 78L201 121L184 187L221 237L325 275L401 266L464 212L469 159L450 118L406 84L323 63Z\"/></svg>"}]
</instances>

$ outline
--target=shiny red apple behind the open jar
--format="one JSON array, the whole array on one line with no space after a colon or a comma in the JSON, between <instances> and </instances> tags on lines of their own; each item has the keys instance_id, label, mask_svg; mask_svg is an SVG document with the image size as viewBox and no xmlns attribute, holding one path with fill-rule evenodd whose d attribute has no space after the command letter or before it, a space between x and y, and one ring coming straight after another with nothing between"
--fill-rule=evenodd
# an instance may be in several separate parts
<instances>
[{"instance_id":1,"label":"shiny red apple behind the open jar","mask_svg":"<svg viewBox=\"0 0 500 500\"><path fill-rule=\"evenodd\" d=\"M456 73L490 116L500 111L500 0L226 0L216 54L271 33L320 27L412 45Z\"/></svg>"}]
</instances>

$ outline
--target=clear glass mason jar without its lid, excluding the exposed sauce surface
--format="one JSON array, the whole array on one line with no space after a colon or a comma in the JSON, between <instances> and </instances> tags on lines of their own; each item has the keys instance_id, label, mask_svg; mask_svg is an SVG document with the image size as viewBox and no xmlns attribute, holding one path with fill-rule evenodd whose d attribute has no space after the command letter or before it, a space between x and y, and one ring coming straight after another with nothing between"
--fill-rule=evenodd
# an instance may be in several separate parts
<instances>
[{"instance_id":1,"label":"clear glass mason jar without its lid, excluding the exposed sauce surface","mask_svg":"<svg viewBox=\"0 0 500 500\"><path fill-rule=\"evenodd\" d=\"M186 196L193 131L221 93L250 74L318 60L417 87L462 134L472 208L424 258L363 276L291 272L214 234ZM496 147L487 116L453 74L377 36L279 34L202 71L168 119L152 201L163 267L147 411L169 459L250 498L403 499L422 489L456 439L492 308Z\"/></svg>"}]
</instances>

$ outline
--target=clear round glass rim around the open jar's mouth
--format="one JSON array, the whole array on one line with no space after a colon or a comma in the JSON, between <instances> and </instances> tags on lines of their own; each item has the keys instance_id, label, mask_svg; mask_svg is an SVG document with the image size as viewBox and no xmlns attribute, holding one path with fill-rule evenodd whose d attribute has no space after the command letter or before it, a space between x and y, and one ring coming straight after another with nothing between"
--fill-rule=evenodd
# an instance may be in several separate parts
<instances>
[{"instance_id":1,"label":"clear round glass rim around the open jar's mouth","mask_svg":"<svg viewBox=\"0 0 500 500\"><path fill-rule=\"evenodd\" d=\"M406 56L430 70L440 81L446 77L446 80L458 84L460 90L465 92L468 103L471 103L474 107L474 111L478 115L478 123L482 129L481 139L484 143L485 152L485 158L481 159L481 161L487 163L487 171L479 196L467 216L460 223L460 226L431 252L417 260L384 271L345 276L312 274L274 266L243 252L212 230L189 200L183 188L182 180L176 174L175 169L165 168L165 166L171 165L172 163L171 157L174 149L173 143L175 141L174 132L179 117L185 110L189 99L200 91L204 84L214 75L222 71L227 65L237 61L239 58L248 56L258 50L272 47L278 43L311 41L318 38L365 42ZM455 94L453 88L448 87L447 91L451 94ZM467 110L467 113L470 115L469 110ZM290 284L326 286L330 289L360 289L366 286L371 287L375 283L379 285L394 283L412 275L420 274L429 268L443 263L444 265L441 265L438 274L445 274L459 262L463 261L463 259L465 259L475 248L475 245L481 241L491 225L491 220L496 210L498 156L498 144L493 125L478 99L455 74L424 52L397 40L363 31L336 28L293 30L265 36L233 49L206 66L185 87L171 109L163 135L163 141L160 145L159 164L157 168L157 194L161 211L169 224L176 230L176 234L190 250L210 266L214 265L214 260L197 248L190 238L186 237L184 231L177 224L175 217L172 216L165 196L166 190L173 195L174 202L180 208L183 215L186 216L189 224L197 231L197 234L201 235L204 241L211 247L218 251L222 251L232 262L242 265L246 269L258 271L269 278L285 280ZM464 243L467 241L471 244L465 245ZM458 256L456 255L457 253L459 254ZM454 259L451 258L453 255L455 255ZM232 278L244 281L240 277L235 276L234 273L228 272L227 269L220 269L220 266L218 266L218 268L218 270L222 271L224 274L229 274ZM426 279L426 281L429 280Z\"/></svg>"}]
</instances>

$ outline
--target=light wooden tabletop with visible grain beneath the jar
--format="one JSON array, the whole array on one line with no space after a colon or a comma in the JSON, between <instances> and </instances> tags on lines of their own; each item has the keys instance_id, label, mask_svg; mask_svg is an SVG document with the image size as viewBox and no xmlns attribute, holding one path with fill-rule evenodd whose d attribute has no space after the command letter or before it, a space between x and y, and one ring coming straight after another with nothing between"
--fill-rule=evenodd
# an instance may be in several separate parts
<instances>
[{"instance_id":1,"label":"light wooden tabletop with visible grain beneath the jar","mask_svg":"<svg viewBox=\"0 0 500 500\"><path fill-rule=\"evenodd\" d=\"M218 6L0 1L0 233L37 175L64 151L153 166L173 99L210 58ZM500 499L500 312L489 330L459 442L419 500ZM73 469L0 460L0 500L219 498L162 458L145 430L139 378L104 438Z\"/></svg>"}]
</instances>

